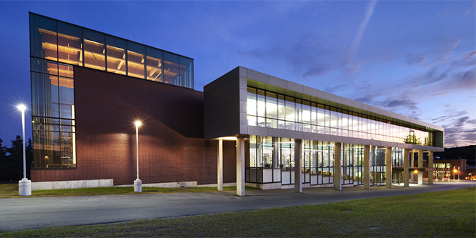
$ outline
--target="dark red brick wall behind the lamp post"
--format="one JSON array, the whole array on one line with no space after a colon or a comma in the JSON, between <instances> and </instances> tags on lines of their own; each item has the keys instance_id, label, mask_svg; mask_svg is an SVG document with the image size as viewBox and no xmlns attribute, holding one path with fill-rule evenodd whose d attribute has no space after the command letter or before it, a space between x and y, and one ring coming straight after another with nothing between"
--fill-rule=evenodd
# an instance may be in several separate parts
<instances>
[{"instance_id":1,"label":"dark red brick wall behind the lamp post","mask_svg":"<svg viewBox=\"0 0 476 238\"><path fill-rule=\"evenodd\" d=\"M136 179L217 182L217 142L204 141L203 92L75 67L76 169L31 171L34 182ZM224 143L224 182L236 181L234 142Z\"/></svg>"}]
</instances>

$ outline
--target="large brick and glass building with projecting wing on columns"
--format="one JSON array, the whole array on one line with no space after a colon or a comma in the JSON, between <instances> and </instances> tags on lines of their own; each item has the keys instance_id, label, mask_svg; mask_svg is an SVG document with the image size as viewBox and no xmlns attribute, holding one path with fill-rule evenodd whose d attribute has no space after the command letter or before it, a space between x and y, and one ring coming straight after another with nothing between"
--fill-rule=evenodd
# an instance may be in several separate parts
<instances>
[{"instance_id":1,"label":"large brick and glass building with projecting wing on columns","mask_svg":"<svg viewBox=\"0 0 476 238\"><path fill-rule=\"evenodd\" d=\"M136 120L144 184L242 195L390 187L444 148L442 127L241 66L197 91L187 56L33 13L30 44L32 182L132 184Z\"/></svg>"}]
</instances>

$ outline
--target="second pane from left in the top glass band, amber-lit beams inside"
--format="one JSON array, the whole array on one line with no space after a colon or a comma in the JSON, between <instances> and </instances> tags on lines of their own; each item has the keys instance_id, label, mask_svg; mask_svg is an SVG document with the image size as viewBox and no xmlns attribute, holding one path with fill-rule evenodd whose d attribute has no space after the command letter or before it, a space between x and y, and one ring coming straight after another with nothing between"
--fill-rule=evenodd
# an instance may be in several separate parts
<instances>
[{"instance_id":1,"label":"second pane from left in the top glass band, amber-lit beams inside","mask_svg":"<svg viewBox=\"0 0 476 238\"><path fill-rule=\"evenodd\" d=\"M77 26L58 22L59 61L83 66L83 30Z\"/></svg>"}]
</instances>

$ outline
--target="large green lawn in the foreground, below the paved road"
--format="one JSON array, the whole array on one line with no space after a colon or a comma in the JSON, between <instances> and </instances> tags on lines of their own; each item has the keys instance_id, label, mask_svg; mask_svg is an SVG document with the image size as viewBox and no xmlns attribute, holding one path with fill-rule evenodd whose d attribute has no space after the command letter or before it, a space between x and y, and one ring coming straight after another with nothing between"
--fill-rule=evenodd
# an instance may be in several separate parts
<instances>
[{"instance_id":1,"label":"large green lawn in the foreground, below the paved road","mask_svg":"<svg viewBox=\"0 0 476 238\"><path fill-rule=\"evenodd\" d=\"M5 232L0 237L476 237L476 189Z\"/></svg>"}]
</instances>

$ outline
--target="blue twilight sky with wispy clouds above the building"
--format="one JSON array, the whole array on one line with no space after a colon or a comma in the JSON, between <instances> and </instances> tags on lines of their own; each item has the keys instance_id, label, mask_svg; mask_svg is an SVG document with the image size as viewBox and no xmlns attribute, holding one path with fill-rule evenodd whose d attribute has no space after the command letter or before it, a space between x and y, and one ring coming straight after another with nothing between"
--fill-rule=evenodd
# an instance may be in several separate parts
<instances>
[{"instance_id":1,"label":"blue twilight sky with wispy clouds above the building","mask_svg":"<svg viewBox=\"0 0 476 238\"><path fill-rule=\"evenodd\" d=\"M31 104L28 11L192 57L196 90L244 66L476 144L475 1L0 1L8 146Z\"/></svg>"}]
</instances>

